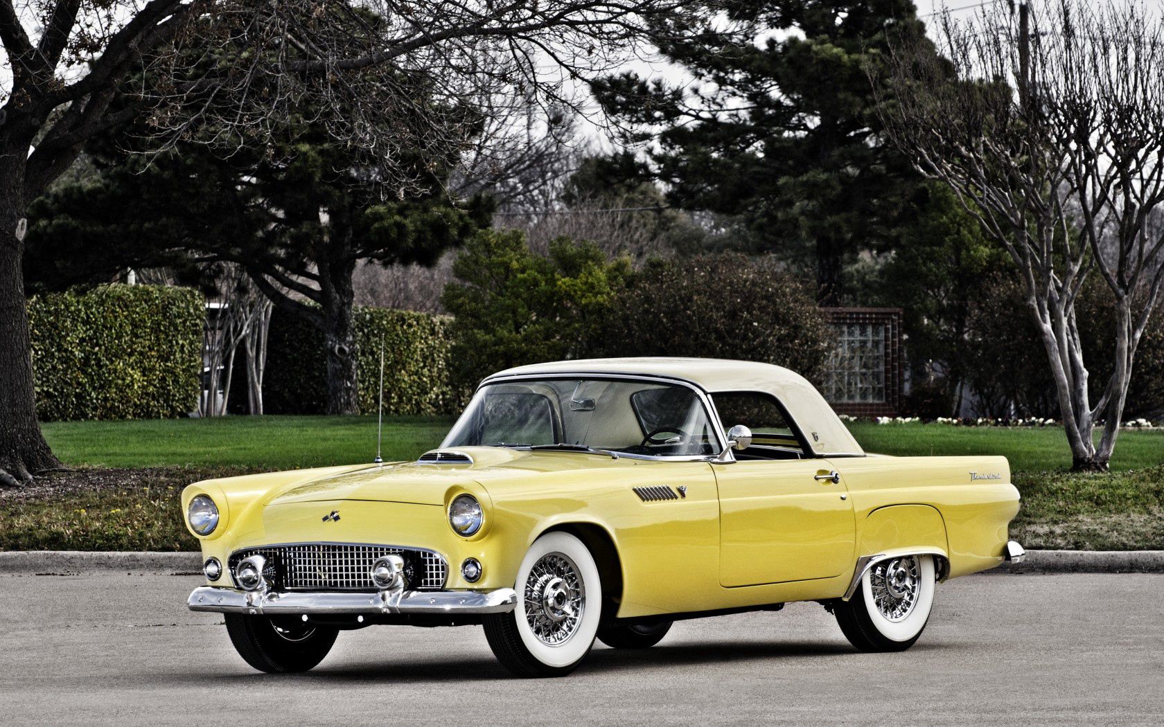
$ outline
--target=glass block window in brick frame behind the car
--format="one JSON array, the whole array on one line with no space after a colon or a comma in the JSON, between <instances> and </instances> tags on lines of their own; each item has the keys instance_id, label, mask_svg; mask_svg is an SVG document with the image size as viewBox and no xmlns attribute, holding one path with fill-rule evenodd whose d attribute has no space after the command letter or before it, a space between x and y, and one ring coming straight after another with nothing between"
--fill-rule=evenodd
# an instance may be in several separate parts
<instances>
[{"instance_id":1,"label":"glass block window in brick frame behind the car","mask_svg":"<svg viewBox=\"0 0 1164 727\"><path fill-rule=\"evenodd\" d=\"M885 323L836 323L837 345L825 368L824 398L836 404L886 400Z\"/></svg>"}]
</instances>

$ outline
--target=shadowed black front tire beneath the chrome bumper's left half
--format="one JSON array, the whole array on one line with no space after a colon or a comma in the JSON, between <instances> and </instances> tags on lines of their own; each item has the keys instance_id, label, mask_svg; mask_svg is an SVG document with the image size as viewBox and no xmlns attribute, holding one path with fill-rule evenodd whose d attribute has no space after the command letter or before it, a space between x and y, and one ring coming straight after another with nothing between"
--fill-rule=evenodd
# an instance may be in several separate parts
<instances>
[{"instance_id":1,"label":"shadowed black front tire beneath the chrome bumper's left half","mask_svg":"<svg viewBox=\"0 0 1164 727\"><path fill-rule=\"evenodd\" d=\"M332 650L339 632L292 616L226 614L226 632L248 664L268 673L307 671Z\"/></svg>"}]
</instances>

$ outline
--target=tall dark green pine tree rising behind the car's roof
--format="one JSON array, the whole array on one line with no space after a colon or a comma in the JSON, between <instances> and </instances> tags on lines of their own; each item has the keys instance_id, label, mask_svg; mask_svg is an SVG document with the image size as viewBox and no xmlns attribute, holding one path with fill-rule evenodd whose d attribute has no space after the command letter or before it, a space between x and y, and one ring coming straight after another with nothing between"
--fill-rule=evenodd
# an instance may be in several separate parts
<instances>
[{"instance_id":1,"label":"tall dark green pine tree rising behind the car's roof","mask_svg":"<svg viewBox=\"0 0 1164 727\"><path fill-rule=\"evenodd\" d=\"M818 300L845 263L892 240L921 187L878 135L871 65L923 34L910 0L739 0L725 22L659 28L694 84L624 73L596 93L647 145L672 204L737 216L755 251L812 261Z\"/></svg>"}]
</instances>

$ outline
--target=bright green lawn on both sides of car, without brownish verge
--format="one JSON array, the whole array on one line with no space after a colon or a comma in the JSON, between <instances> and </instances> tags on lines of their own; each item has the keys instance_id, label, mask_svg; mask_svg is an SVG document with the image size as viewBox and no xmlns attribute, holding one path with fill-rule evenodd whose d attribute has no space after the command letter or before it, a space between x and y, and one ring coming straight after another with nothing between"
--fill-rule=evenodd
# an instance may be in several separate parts
<instances>
[{"instance_id":1,"label":"bright green lawn on both sides of car, without brownish verge","mask_svg":"<svg viewBox=\"0 0 1164 727\"><path fill-rule=\"evenodd\" d=\"M390 416L384 459L410 459L436 447L453 419ZM243 466L279 470L369 462L376 454L370 416L220 416L161 421L63 421L43 425L63 462L73 466ZM1002 455L1015 472L1067 469L1059 428L952 427L850 422L867 451L886 455ZM1164 428L1123 432L1112 469L1164 463Z\"/></svg>"}]
</instances>

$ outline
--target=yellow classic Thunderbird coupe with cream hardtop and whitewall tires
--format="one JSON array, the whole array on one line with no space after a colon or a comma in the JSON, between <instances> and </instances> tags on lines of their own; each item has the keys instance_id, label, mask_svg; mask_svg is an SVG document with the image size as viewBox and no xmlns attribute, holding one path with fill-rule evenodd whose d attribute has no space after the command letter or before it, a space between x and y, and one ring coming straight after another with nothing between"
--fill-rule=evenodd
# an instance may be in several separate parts
<instances>
[{"instance_id":1,"label":"yellow classic Thunderbird coupe with cream hardtop and whitewall tires","mask_svg":"<svg viewBox=\"0 0 1164 727\"><path fill-rule=\"evenodd\" d=\"M1023 557L1006 458L866 454L801 376L702 358L502 371L416 462L201 482L183 508L190 608L268 672L340 630L481 625L513 673L565 675L595 639L789 601L897 651L937 583Z\"/></svg>"}]
</instances>

